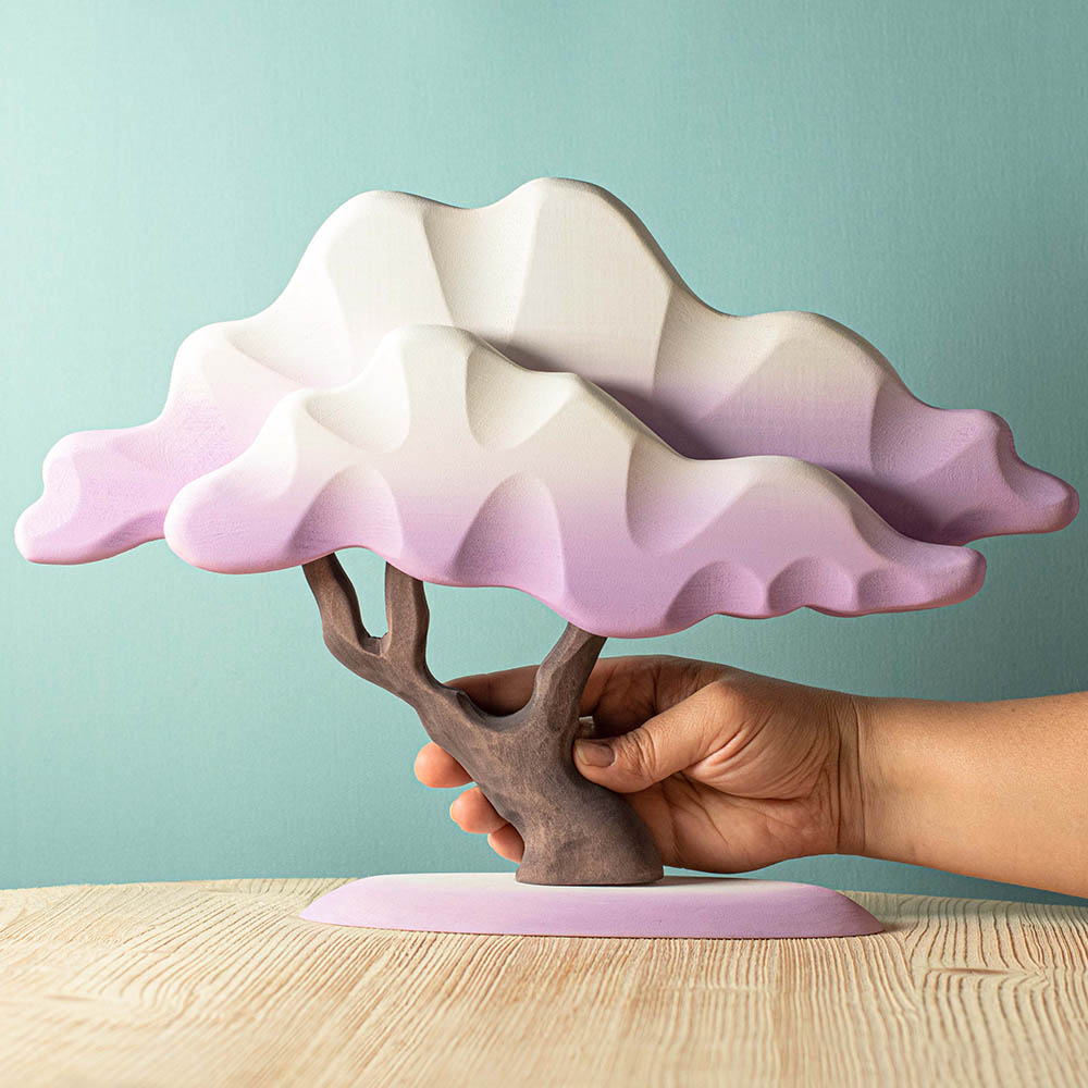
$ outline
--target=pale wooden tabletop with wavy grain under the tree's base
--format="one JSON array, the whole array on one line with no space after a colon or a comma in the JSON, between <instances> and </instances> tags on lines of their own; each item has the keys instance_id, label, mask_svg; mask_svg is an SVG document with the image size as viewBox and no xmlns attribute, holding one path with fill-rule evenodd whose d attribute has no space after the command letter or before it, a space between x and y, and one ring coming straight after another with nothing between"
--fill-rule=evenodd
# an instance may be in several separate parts
<instances>
[{"instance_id":1,"label":"pale wooden tabletop with wavy grain under the tree's base","mask_svg":"<svg viewBox=\"0 0 1088 1088\"><path fill-rule=\"evenodd\" d=\"M1088 1085L1088 910L857 894L845 940L319 926L338 880L0 892L0 1084Z\"/></svg>"}]
</instances>

